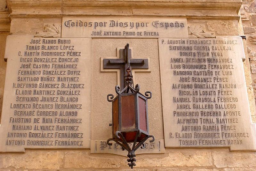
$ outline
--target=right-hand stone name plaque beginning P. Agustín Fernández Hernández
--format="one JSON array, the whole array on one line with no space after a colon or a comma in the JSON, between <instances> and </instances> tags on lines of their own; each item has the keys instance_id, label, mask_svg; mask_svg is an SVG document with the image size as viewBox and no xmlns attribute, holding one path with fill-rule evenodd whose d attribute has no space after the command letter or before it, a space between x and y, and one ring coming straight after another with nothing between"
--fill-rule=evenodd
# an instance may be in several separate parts
<instances>
[{"instance_id":1,"label":"right-hand stone name plaque beginning P. Agust\u00edn Fern\u00e1ndez Hern\u00e1ndez","mask_svg":"<svg viewBox=\"0 0 256 171\"><path fill-rule=\"evenodd\" d=\"M241 37L159 38L166 147L256 150Z\"/></svg>"}]
</instances>

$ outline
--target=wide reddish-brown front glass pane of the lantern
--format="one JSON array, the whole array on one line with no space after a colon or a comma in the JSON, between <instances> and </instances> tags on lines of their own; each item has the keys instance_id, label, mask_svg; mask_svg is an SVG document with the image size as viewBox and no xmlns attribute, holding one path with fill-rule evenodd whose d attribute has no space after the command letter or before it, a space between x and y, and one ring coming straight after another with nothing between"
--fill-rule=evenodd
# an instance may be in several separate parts
<instances>
[{"instance_id":1,"label":"wide reddish-brown front glass pane of the lantern","mask_svg":"<svg viewBox=\"0 0 256 171\"><path fill-rule=\"evenodd\" d=\"M121 96L122 130L135 129L134 95Z\"/></svg>"}]
</instances>

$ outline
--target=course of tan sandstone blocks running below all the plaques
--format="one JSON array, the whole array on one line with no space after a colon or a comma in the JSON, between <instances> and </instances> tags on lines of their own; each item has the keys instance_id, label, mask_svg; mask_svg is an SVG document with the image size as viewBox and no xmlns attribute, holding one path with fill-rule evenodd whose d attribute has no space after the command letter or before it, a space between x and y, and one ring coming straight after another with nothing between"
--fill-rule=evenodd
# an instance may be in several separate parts
<instances>
[{"instance_id":1,"label":"course of tan sandstone blocks running below all the plaques","mask_svg":"<svg viewBox=\"0 0 256 171\"><path fill-rule=\"evenodd\" d=\"M126 157L90 154L89 150L26 150L0 154L1 171L111 171L131 170ZM165 154L136 157L141 171L254 171L254 152L229 152L228 149L167 149Z\"/></svg>"}]
</instances>

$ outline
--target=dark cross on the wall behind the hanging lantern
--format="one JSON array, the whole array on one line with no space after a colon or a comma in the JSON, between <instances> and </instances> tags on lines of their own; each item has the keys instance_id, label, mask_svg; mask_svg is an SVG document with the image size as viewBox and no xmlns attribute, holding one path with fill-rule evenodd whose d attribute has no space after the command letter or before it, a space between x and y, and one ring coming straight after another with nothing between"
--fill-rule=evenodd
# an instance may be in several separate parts
<instances>
[{"instance_id":1,"label":"dark cross on the wall behind the hanging lantern","mask_svg":"<svg viewBox=\"0 0 256 171\"><path fill-rule=\"evenodd\" d=\"M128 52L127 52L128 50ZM131 49L129 49L129 44L120 49L119 59L103 59L103 69L120 69L120 81L121 90L125 87L125 74L128 66L128 59L130 59L131 69L148 69L148 59L132 59Z\"/></svg>"}]
</instances>

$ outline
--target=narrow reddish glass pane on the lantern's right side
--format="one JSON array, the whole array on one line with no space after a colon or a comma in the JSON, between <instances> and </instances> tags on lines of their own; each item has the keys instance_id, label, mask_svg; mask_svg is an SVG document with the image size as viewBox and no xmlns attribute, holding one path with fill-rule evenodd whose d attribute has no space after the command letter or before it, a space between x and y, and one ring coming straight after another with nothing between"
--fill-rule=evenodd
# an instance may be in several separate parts
<instances>
[{"instance_id":1,"label":"narrow reddish glass pane on the lantern's right side","mask_svg":"<svg viewBox=\"0 0 256 171\"><path fill-rule=\"evenodd\" d=\"M139 116L140 116L140 129L148 132L148 123L147 123L147 110L146 110L146 100L139 99Z\"/></svg>"}]
</instances>

